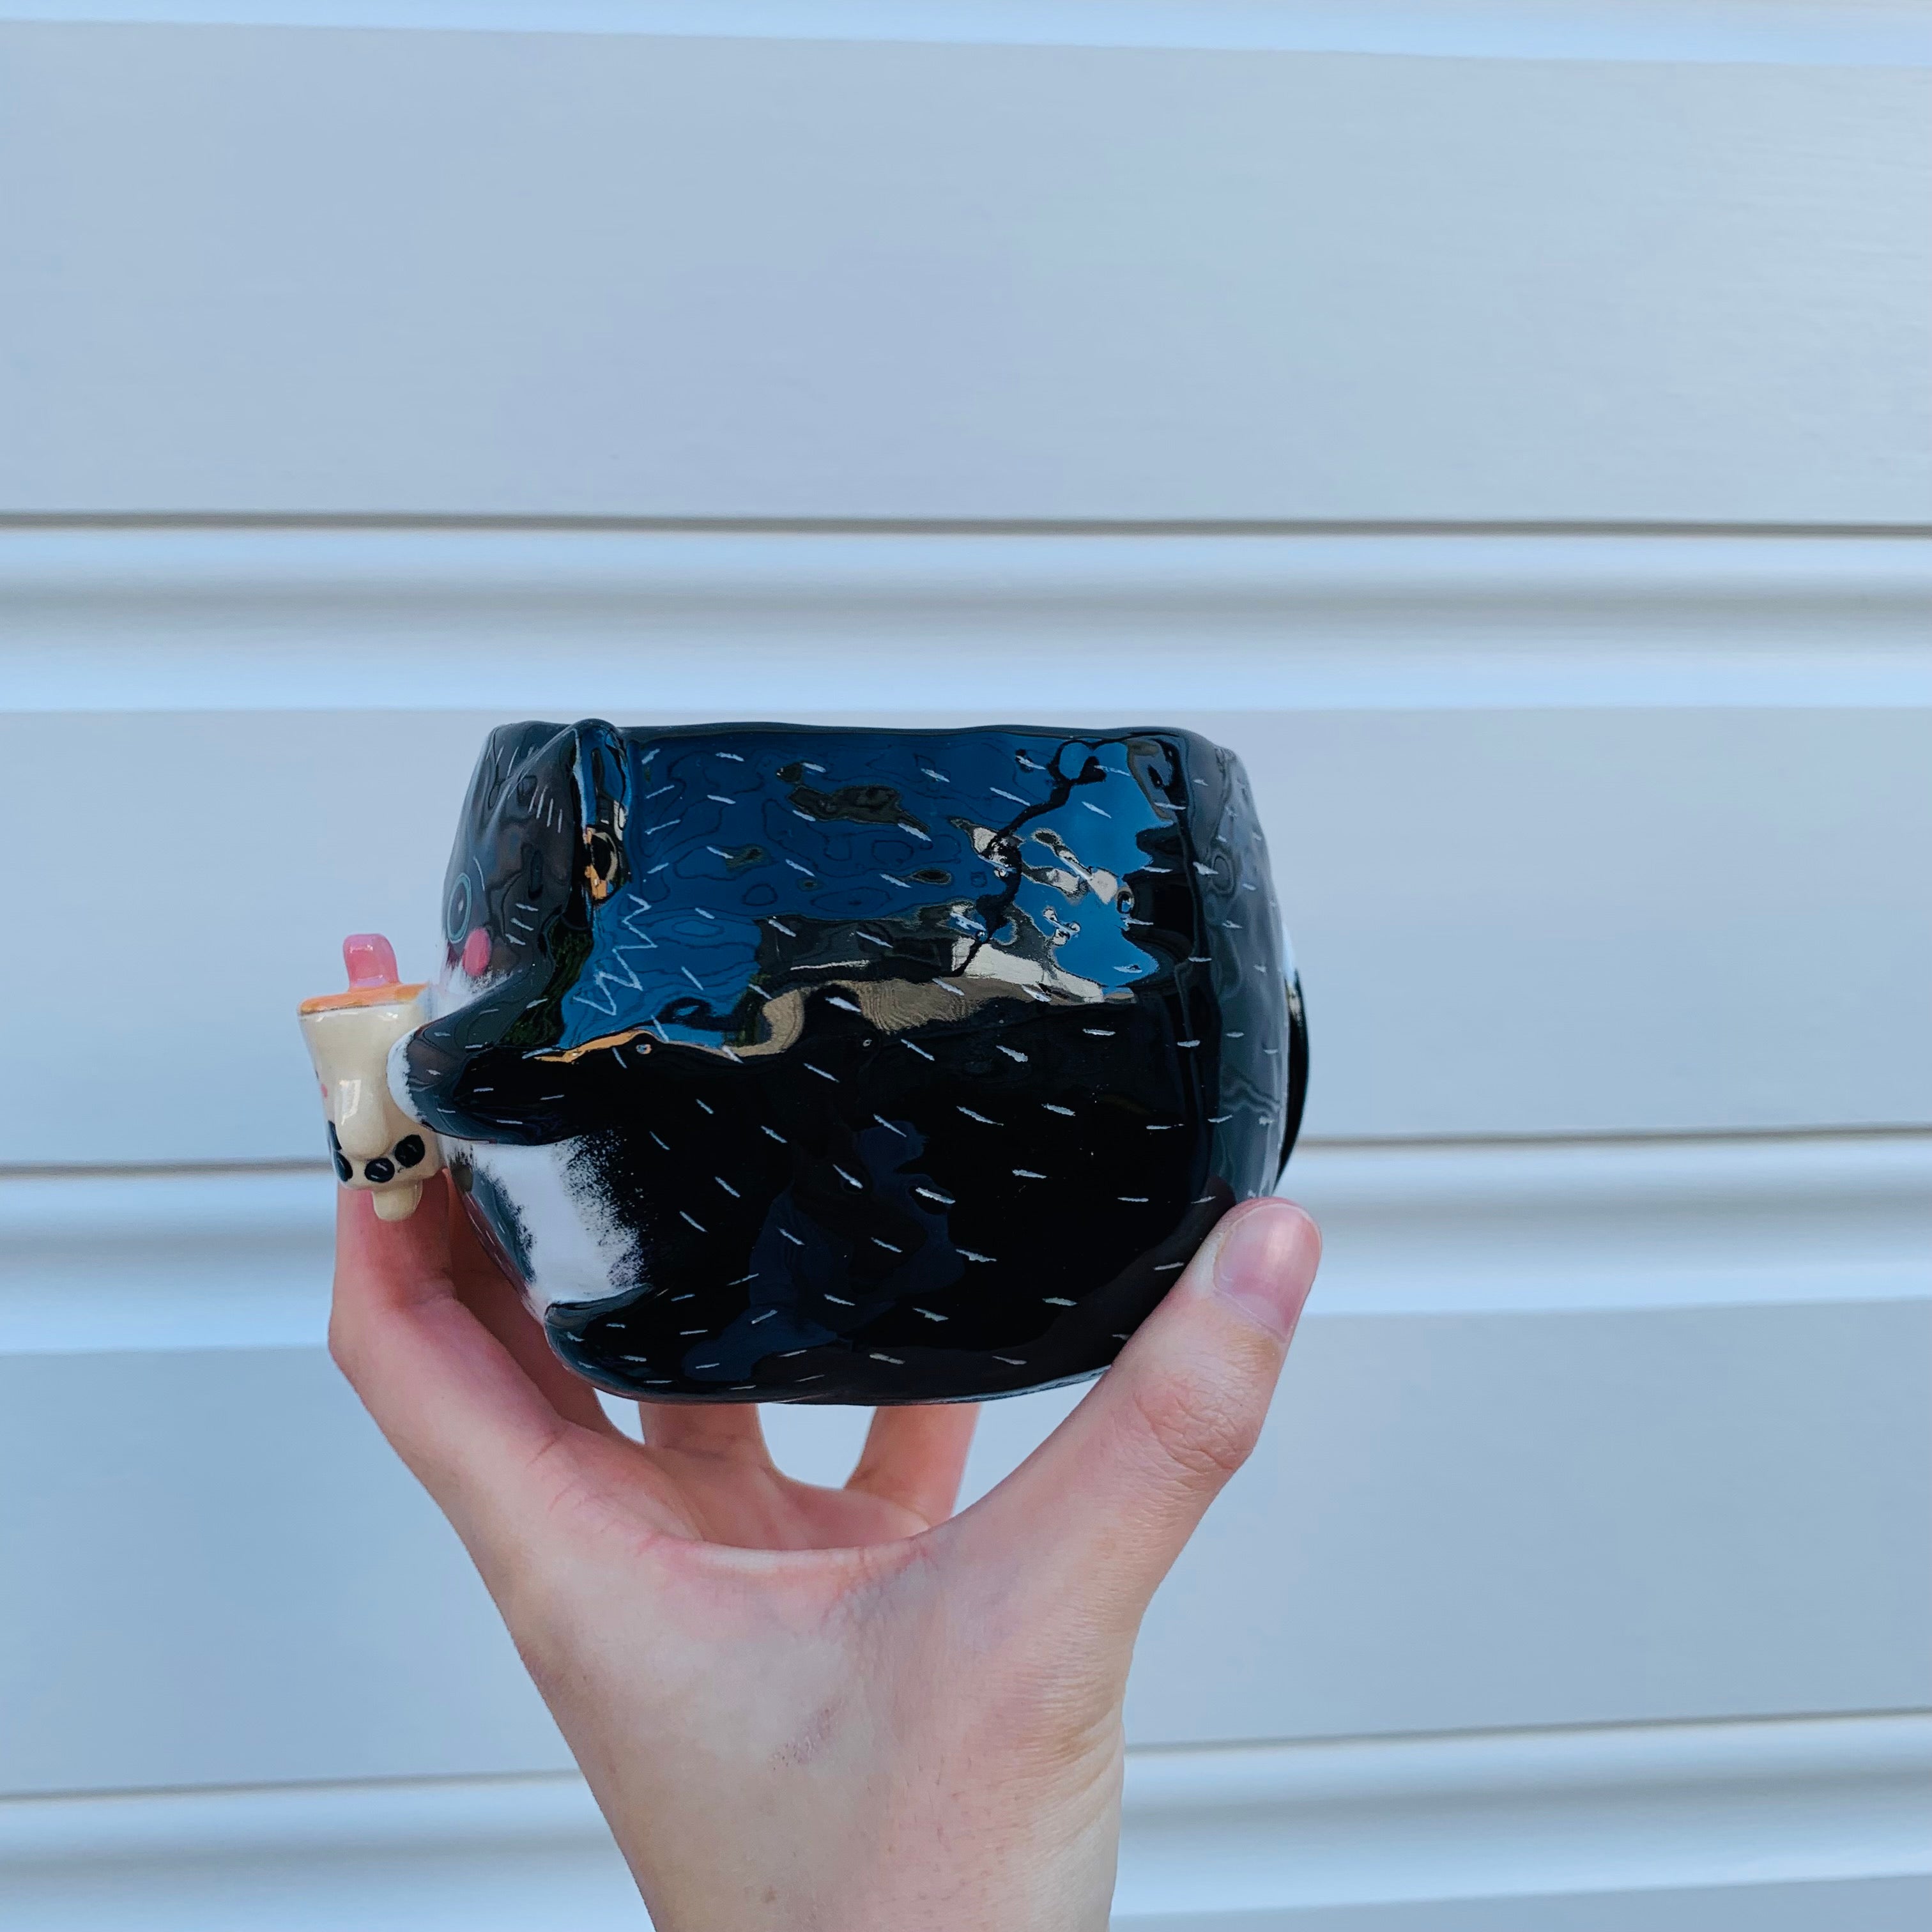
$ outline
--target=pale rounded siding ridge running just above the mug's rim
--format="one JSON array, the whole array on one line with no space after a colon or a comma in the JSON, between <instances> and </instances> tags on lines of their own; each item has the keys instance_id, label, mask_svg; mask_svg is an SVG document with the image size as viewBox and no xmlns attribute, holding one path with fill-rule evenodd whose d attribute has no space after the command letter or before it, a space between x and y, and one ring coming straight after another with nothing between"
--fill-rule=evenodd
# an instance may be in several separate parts
<instances>
[{"instance_id":1,"label":"pale rounded siding ridge running just above the mug's rim","mask_svg":"<svg viewBox=\"0 0 1932 1932\"><path fill-rule=\"evenodd\" d=\"M1932 705L1932 529L0 524L0 709ZM701 643L701 649L694 649ZM908 649L910 645L910 649ZM383 676L344 676L381 651ZM941 705L935 697L947 694ZM981 715L978 709L968 715Z\"/></svg>"}]
</instances>

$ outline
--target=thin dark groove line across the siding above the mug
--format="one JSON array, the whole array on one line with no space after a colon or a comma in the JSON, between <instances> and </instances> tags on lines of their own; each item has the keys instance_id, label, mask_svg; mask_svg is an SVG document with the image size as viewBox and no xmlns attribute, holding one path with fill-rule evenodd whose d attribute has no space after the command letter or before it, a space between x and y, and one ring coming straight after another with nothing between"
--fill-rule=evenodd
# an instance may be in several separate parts
<instances>
[{"instance_id":1,"label":"thin dark groove line across the siding above the mug","mask_svg":"<svg viewBox=\"0 0 1932 1932\"><path fill-rule=\"evenodd\" d=\"M759 518L475 516L466 512L0 510L0 533L33 531L583 531L746 537L1764 537L1932 539L1932 524L1563 522L1447 518Z\"/></svg>"}]
</instances>

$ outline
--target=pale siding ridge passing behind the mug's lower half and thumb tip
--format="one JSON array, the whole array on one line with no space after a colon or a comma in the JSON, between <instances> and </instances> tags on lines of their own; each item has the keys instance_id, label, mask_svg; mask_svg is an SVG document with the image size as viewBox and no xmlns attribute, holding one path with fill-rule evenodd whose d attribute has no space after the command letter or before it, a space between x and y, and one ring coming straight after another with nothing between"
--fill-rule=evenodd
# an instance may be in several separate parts
<instances>
[{"instance_id":1,"label":"pale siding ridge passing behind the mug's lower half and thumb tip","mask_svg":"<svg viewBox=\"0 0 1932 1932\"><path fill-rule=\"evenodd\" d=\"M1327 1235L1312 1321L1932 1302L1932 1134L1312 1142L1287 1192ZM0 1169L0 1354L319 1345L332 1194L311 1161Z\"/></svg>"}]
</instances>

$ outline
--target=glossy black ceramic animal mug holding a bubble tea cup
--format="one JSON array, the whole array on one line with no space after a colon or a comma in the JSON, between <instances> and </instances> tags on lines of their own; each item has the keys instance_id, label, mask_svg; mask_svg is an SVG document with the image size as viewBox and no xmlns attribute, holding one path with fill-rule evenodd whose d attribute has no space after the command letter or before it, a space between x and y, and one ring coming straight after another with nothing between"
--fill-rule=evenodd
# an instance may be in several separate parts
<instances>
[{"instance_id":1,"label":"glossy black ceramic animal mug holding a bubble tea cup","mask_svg":"<svg viewBox=\"0 0 1932 1932\"><path fill-rule=\"evenodd\" d=\"M446 1159L651 1401L1092 1376L1300 1122L1262 829L1192 732L504 726L442 941L303 1010L336 1169L394 1215Z\"/></svg>"}]
</instances>

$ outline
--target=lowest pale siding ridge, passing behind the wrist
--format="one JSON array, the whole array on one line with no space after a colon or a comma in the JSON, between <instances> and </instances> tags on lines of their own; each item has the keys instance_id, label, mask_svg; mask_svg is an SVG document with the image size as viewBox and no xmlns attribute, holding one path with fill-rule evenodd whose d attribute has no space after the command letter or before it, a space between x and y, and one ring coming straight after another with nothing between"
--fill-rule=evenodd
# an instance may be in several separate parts
<instances>
[{"instance_id":1,"label":"lowest pale siding ridge, passing behind the wrist","mask_svg":"<svg viewBox=\"0 0 1932 1932\"><path fill-rule=\"evenodd\" d=\"M1932 1870L1922 1712L1130 1750L1122 1917ZM570 1774L162 1787L0 1801L0 1868L213 1862L305 1897L357 1857L611 1859Z\"/></svg>"}]
</instances>

